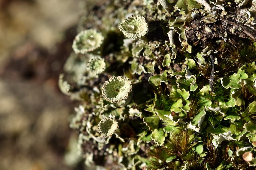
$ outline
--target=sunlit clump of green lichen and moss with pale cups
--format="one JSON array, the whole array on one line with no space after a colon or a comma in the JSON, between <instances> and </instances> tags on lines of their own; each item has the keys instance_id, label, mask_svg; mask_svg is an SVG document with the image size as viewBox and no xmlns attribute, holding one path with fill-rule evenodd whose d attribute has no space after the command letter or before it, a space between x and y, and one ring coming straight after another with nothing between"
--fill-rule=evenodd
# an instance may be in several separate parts
<instances>
[{"instance_id":1,"label":"sunlit clump of green lichen and moss with pale cups","mask_svg":"<svg viewBox=\"0 0 256 170\"><path fill-rule=\"evenodd\" d=\"M86 10L78 30L104 39L88 50L76 38L87 50L74 48L59 83L81 101L70 127L86 166L254 169L255 6L111 0Z\"/></svg>"}]
</instances>

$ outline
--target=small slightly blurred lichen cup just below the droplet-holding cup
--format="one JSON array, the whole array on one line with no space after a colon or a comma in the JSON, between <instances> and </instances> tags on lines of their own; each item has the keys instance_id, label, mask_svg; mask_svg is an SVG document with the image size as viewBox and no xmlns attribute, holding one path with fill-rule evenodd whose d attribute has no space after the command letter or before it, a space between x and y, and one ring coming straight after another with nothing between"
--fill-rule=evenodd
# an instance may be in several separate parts
<instances>
[{"instance_id":1,"label":"small slightly blurred lichen cup just below the droplet-holding cup","mask_svg":"<svg viewBox=\"0 0 256 170\"><path fill-rule=\"evenodd\" d=\"M87 63L87 68L89 70L89 74L92 76L102 73L106 68L104 58L101 58L100 56L93 56Z\"/></svg>"}]
</instances>

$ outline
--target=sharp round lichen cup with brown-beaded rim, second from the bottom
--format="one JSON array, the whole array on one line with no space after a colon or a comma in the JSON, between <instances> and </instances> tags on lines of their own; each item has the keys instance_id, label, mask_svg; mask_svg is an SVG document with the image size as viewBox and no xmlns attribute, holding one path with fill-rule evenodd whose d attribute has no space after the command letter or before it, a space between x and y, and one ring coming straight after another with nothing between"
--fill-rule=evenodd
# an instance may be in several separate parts
<instances>
[{"instance_id":1,"label":"sharp round lichen cup with brown-beaded rim, second from the bottom","mask_svg":"<svg viewBox=\"0 0 256 170\"><path fill-rule=\"evenodd\" d=\"M132 91L132 82L127 77L111 77L102 87L102 96L111 103L128 98Z\"/></svg>"}]
</instances>

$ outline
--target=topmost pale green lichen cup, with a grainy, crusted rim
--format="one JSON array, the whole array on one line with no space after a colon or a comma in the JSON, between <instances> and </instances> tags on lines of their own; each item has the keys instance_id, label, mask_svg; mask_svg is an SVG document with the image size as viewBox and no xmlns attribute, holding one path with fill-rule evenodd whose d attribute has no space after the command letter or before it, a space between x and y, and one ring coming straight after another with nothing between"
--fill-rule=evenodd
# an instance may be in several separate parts
<instances>
[{"instance_id":1,"label":"topmost pale green lichen cup, with a grainy, crusted rim","mask_svg":"<svg viewBox=\"0 0 256 170\"><path fill-rule=\"evenodd\" d=\"M148 23L142 16L131 16L119 24L119 29L130 39L140 39L148 32Z\"/></svg>"}]
</instances>

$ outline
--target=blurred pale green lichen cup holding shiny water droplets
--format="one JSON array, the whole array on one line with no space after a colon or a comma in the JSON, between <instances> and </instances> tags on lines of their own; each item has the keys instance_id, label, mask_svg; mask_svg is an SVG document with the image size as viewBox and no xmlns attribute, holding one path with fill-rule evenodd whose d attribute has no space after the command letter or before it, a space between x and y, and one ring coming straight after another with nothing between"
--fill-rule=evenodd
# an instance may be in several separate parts
<instances>
[{"instance_id":1,"label":"blurred pale green lichen cup holding shiny water droplets","mask_svg":"<svg viewBox=\"0 0 256 170\"><path fill-rule=\"evenodd\" d=\"M100 47L104 40L101 33L97 33L96 30L89 29L81 31L73 41L72 48L75 53L85 54L86 52L93 51Z\"/></svg>"}]
</instances>

